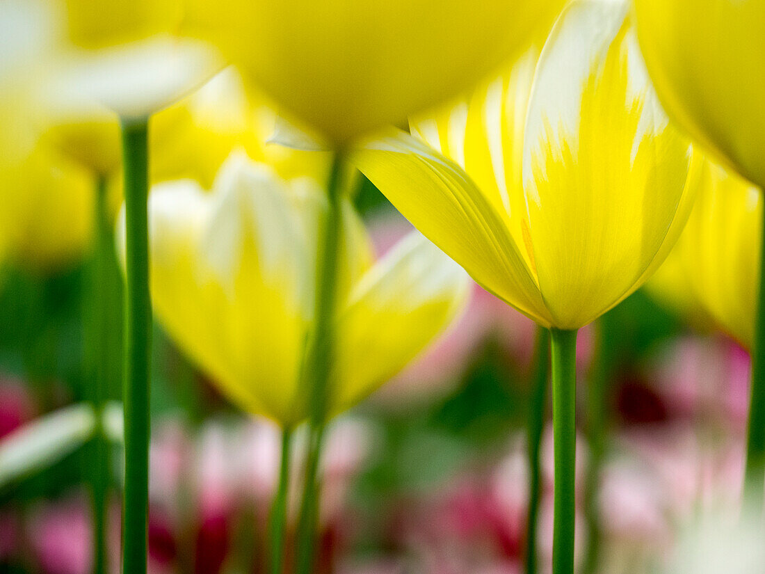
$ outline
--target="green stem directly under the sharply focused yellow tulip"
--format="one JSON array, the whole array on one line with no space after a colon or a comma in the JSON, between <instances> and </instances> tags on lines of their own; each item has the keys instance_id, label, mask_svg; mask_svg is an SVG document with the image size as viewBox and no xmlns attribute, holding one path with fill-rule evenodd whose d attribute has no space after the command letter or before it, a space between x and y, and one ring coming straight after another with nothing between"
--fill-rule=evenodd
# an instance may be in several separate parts
<instances>
[{"instance_id":1,"label":"green stem directly under the sharply focused yellow tulip","mask_svg":"<svg viewBox=\"0 0 765 574\"><path fill-rule=\"evenodd\" d=\"M555 440L552 574L574 572L576 334L552 329L552 429Z\"/></svg>"}]
</instances>

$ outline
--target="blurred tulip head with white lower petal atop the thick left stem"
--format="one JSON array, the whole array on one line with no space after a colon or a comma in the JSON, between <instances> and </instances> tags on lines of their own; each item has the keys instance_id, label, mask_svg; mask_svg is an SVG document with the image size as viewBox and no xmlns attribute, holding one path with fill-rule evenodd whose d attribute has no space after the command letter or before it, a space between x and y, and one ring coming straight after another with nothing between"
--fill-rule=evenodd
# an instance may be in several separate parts
<instances>
[{"instance_id":1,"label":"blurred tulip head with white lower petal atop the thick left stem","mask_svg":"<svg viewBox=\"0 0 765 574\"><path fill-rule=\"evenodd\" d=\"M220 70L207 44L178 34L181 0L57 0L62 57L50 75L62 99L96 100L138 120L171 105Z\"/></svg>"}]
</instances>

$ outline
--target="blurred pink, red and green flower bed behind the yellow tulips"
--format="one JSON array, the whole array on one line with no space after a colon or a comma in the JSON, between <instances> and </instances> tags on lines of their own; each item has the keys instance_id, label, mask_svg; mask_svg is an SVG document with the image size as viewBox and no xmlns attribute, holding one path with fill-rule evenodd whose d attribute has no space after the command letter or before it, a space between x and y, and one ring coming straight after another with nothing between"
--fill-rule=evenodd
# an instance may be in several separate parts
<instances>
[{"instance_id":1,"label":"blurred pink, red and green flower bed behind the yellow tulips","mask_svg":"<svg viewBox=\"0 0 765 574\"><path fill-rule=\"evenodd\" d=\"M355 202L380 253L409 229L368 182ZM3 267L0 439L88 398L81 357L89 264L83 253L56 269ZM467 311L443 338L331 423L320 572L522 571L534 340L531 321L474 286ZM601 448L579 429L580 559L597 572L653 572L684 523L737 500L748 356L728 338L692 331L641 290L581 332L578 366L580 420L593 420L585 416L588 393L601 389L607 430L601 471L588 477L592 449ZM151 572L263 572L278 429L220 396L158 325L151 381ZM119 399L119 380L109 394ZM296 440L299 482L299 432ZM0 481L0 572L90 572L88 448ZM114 558L119 440L112 448ZM549 430L542 471L544 571L552 548ZM291 503L294 519L298 501Z\"/></svg>"}]
</instances>

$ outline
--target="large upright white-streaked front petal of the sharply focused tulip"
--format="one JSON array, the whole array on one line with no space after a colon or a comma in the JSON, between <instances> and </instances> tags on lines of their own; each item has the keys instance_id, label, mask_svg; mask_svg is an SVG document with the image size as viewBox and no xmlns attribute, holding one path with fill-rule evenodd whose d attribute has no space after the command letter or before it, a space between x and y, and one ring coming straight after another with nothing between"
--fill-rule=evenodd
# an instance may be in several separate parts
<instances>
[{"instance_id":1,"label":"large upright white-streaked front petal of the sharply focused tulip","mask_svg":"<svg viewBox=\"0 0 765 574\"><path fill-rule=\"evenodd\" d=\"M689 145L659 106L626 15L623 2L572 2L529 103L529 233L558 328L581 328L637 289L687 217Z\"/></svg>"}]
</instances>

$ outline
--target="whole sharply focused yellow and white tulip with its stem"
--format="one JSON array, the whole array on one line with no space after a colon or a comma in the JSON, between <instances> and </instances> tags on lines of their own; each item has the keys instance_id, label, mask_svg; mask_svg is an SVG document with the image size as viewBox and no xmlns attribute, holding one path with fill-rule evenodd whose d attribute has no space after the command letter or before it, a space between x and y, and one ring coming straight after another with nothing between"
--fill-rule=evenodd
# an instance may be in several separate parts
<instances>
[{"instance_id":1,"label":"whole sharply focused yellow and white tulip with its stem","mask_svg":"<svg viewBox=\"0 0 765 574\"><path fill-rule=\"evenodd\" d=\"M573 569L576 331L669 253L692 203L690 150L649 85L625 3L571 3L534 60L415 120L418 139L367 142L353 161L484 289L552 330L563 574Z\"/></svg>"}]
</instances>

